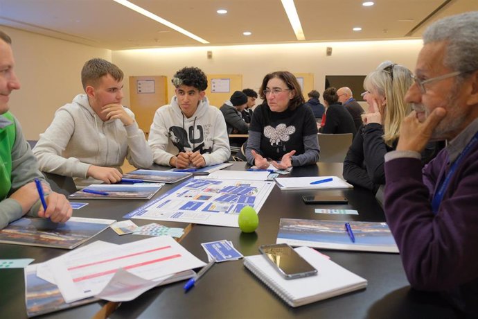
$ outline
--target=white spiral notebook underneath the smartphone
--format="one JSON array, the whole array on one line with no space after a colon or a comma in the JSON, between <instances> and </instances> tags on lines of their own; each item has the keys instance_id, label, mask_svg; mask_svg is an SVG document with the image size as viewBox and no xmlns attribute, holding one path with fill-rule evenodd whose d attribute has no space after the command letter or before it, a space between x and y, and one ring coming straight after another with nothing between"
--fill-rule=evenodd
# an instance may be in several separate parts
<instances>
[{"instance_id":1,"label":"white spiral notebook underneath the smartphone","mask_svg":"<svg viewBox=\"0 0 478 319\"><path fill-rule=\"evenodd\" d=\"M245 257L244 266L291 307L303 306L366 287L366 279L335 264L312 248L299 247L295 250L317 269L317 275L284 279L263 255Z\"/></svg>"}]
</instances>

